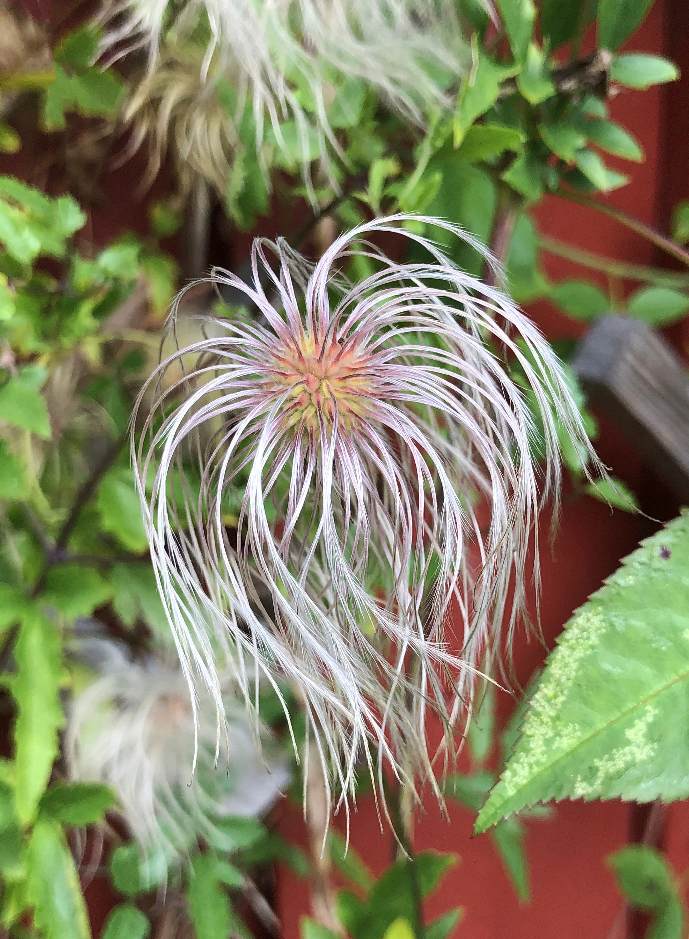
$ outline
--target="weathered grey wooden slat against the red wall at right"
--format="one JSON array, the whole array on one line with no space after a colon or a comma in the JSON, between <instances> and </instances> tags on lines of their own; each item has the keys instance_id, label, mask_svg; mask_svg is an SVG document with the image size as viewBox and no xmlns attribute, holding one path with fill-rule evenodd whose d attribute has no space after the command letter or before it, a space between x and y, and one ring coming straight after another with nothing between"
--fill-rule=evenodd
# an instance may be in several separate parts
<instances>
[{"instance_id":1,"label":"weathered grey wooden slat against the red wall at right","mask_svg":"<svg viewBox=\"0 0 689 939\"><path fill-rule=\"evenodd\" d=\"M591 404L689 503L689 376L674 349L644 323L604 316L572 364Z\"/></svg>"}]
</instances>

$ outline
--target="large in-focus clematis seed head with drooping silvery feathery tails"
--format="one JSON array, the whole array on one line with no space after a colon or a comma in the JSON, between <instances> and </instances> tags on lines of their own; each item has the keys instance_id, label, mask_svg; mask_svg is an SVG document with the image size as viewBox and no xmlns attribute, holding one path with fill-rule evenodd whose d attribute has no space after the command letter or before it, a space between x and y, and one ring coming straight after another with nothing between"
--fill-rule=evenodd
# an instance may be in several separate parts
<instances>
[{"instance_id":1,"label":"large in-focus clematis seed head with drooping silvery feathery tails","mask_svg":"<svg viewBox=\"0 0 689 939\"><path fill-rule=\"evenodd\" d=\"M429 716L452 750L477 671L524 608L529 537L546 500L557 511L559 434L600 469L540 331L411 221L361 224L314 265L256 239L252 284L212 280L260 315L208 320L134 415L151 558L190 685L220 713L219 661L250 709L258 676L291 685L340 799L361 763L381 789L386 763L409 785L433 778ZM413 221L495 267L460 229ZM393 261L376 236L423 259ZM370 271L359 283L350 262Z\"/></svg>"}]
</instances>

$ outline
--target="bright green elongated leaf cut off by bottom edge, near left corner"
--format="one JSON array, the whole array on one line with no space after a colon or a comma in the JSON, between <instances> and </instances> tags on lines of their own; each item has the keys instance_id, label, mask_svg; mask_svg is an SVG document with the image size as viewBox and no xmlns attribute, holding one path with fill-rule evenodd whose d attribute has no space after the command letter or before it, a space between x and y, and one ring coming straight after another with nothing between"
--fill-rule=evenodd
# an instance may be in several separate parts
<instances>
[{"instance_id":1,"label":"bright green elongated leaf cut off by bottom edge, near left corner","mask_svg":"<svg viewBox=\"0 0 689 939\"><path fill-rule=\"evenodd\" d=\"M45 939L90 939L79 875L58 824L36 823L26 867L34 924Z\"/></svg>"}]
</instances>

